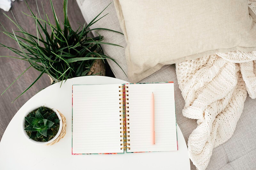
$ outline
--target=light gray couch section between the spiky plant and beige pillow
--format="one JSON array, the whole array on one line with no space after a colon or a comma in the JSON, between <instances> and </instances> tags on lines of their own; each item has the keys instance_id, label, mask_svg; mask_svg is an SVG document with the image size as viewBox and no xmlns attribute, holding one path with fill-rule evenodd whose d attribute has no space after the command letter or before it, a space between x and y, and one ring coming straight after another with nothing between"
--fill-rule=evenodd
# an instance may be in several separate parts
<instances>
[{"instance_id":1,"label":"light gray couch section between the spiky plant and beige pillow","mask_svg":"<svg viewBox=\"0 0 256 170\"><path fill-rule=\"evenodd\" d=\"M104 8L110 4L112 0L77 0L78 6L82 11L85 21L87 24L91 22L93 18L95 18ZM119 21L116 15L116 9L114 2L112 2L108 8L99 16L102 17L104 15L107 16L103 17L95 24L93 24L90 28L107 28L111 30L115 30L118 32L122 32L121 27L119 25ZM88 15L89 14L89 15ZM126 42L124 39L124 35L116 32L106 31L106 30L96 30L102 36L104 36L104 42L109 42L113 44L117 44L120 46L125 47ZM93 32L94 35L97 35L96 32ZM118 46L110 46L110 45L102 45L104 53L115 59L116 62L123 68L124 72L127 73L127 66L126 66L126 59L124 56L125 48L118 47ZM124 74L122 69L112 60L108 60L108 64L111 67L113 73L115 74L116 78L128 81L127 76Z\"/></svg>"}]
</instances>

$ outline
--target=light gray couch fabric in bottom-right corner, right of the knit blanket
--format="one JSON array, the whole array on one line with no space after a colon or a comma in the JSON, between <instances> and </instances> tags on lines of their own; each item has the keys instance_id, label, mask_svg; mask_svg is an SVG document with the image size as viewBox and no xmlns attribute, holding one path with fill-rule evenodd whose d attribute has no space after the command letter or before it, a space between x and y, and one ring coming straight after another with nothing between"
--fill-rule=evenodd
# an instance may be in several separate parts
<instances>
[{"instance_id":1,"label":"light gray couch fabric in bottom-right corner, right of the knit blanket","mask_svg":"<svg viewBox=\"0 0 256 170\"><path fill-rule=\"evenodd\" d=\"M220 167L224 167L223 165L227 169L233 167L232 170L254 170L256 168L255 110L256 100L247 95L243 113L237 122L233 136L224 144L213 149L207 170L220 169Z\"/></svg>"}]
</instances>

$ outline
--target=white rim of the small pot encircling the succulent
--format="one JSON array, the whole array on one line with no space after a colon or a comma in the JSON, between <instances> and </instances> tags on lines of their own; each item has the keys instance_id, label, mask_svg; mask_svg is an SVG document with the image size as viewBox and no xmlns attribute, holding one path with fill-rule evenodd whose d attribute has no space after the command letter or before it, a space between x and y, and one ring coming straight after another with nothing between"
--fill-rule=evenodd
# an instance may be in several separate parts
<instances>
[{"instance_id":1,"label":"white rim of the small pot encircling the succulent","mask_svg":"<svg viewBox=\"0 0 256 170\"><path fill-rule=\"evenodd\" d=\"M25 117L27 117L28 113L31 113L33 110L36 110L37 108L39 108L41 106L52 109L60 119L60 127L59 127L58 133L51 140L49 140L47 142L38 142L38 141L35 141L33 139L30 139L29 136L27 135L27 132L24 130L25 129L24 124L25 124L25 121L26 121ZM56 138L58 138L60 136L62 126L63 126L63 121L62 121L62 118L60 117L60 113L58 112L58 110L56 110L55 108L53 108L52 106L49 106L47 104L39 104L39 105L31 107L29 110L26 110L25 113L24 113L24 116L23 116L22 124L21 124L21 128L22 128L22 131L23 131L23 134L24 134L25 138L27 138L30 142L32 142L34 144L37 144L37 145L46 145L46 144L51 143L52 141L54 141Z\"/></svg>"}]
</instances>

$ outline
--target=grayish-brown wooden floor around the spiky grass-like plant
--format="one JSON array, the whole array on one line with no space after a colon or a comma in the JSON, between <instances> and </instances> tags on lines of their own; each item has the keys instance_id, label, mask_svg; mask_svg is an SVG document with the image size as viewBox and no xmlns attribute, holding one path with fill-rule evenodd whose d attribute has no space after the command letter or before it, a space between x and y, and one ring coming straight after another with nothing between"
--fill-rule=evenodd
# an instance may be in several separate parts
<instances>
[{"instance_id":1,"label":"grayish-brown wooden floor around the spiky grass-like plant","mask_svg":"<svg viewBox=\"0 0 256 170\"><path fill-rule=\"evenodd\" d=\"M35 0L27 0L28 5L32 9L32 11L36 12L36 1ZM42 0L44 5L44 11L50 16L51 23L54 23L51 11L51 5L49 0ZM37 0L39 10L41 9L41 0ZM58 18L60 19L60 23L62 23L63 18L63 0L53 1L53 5L55 11L57 13ZM18 23L29 33L36 35L36 27L32 18L29 18L22 14L25 12L29 14L29 10L24 3L24 1L15 1L12 2L12 13L15 16ZM3 10L0 9L0 22L4 27L11 32L12 29L14 31L18 31L14 24L12 24L8 18L6 18L3 14ZM12 18L11 11L4 12L9 17ZM43 13L41 10L40 13ZM68 1L68 19L71 26L76 30L79 26L78 23L84 25L84 18L81 14L81 11L76 4L76 0ZM0 28L0 30L3 30ZM13 48L18 48L17 42L9 37L7 37L4 33L0 32L0 43L11 46ZM11 51L7 50L4 47L0 47L0 56L15 56ZM18 60L18 59L10 59L10 58L0 58L0 94L26 69L29 67L29 64L26 61ZM107 66L108 67L108 66ZM110 69L109 69L110 70ZM108 70L107 70L108 71ZM109 73L109 71L107 72ZM11 121L12 117L15 113L20 109L20 107L28 101L32 96L34 96L38 91L50 85L49 77L44 74L39 81L36 82L24 95L22 95L18 100L12 103L12 100L15 99L21 92L23 92L39 75L39 72L33 68L29 68L29 70L22 75L11 88L8 89L2 96L0 96L0 140L4 134L4 131ZM18 126L20 127L20 126Z\"/></svg>"}]
</instances>

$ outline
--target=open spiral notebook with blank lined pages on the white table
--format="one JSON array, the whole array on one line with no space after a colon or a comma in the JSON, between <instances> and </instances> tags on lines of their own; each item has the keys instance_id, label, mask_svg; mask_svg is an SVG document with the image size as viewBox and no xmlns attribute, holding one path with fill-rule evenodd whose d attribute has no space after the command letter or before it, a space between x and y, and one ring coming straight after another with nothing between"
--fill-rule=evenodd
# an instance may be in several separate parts
<instances>
[{"instance_id":1,"label":"open spiral notebook with blank lined pages on the white table","mask_svg":"<svg viewBox=\"0 0 256 170\"><path fill-rule=\"evenodd\" d=\"M72 154L178 150L173 82L73 85L72 106Z\"/></svg>"}]
</instances>

